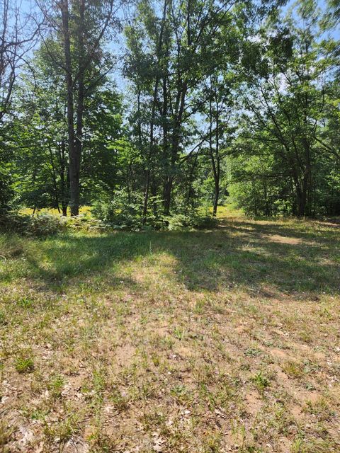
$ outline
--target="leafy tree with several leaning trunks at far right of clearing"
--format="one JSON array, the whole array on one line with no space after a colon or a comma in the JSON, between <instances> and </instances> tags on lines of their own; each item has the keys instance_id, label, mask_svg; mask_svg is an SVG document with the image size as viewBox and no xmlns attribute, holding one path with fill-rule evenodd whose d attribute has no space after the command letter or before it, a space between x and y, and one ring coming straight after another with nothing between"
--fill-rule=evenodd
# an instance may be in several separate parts
<instances>
[{"instance_id":1,"label":"leafy tree with several leaning trunks at far right of clearing","mask_svg":"<svg viewBox=\"0 0 340 453\"><path fill-rule=\"evenodd\" d=\"M264 75L255 74L244 96L247 125L256 141L270 147L278 174L293 187L293 213L314 211L317 134L324 117L329 62L317 40L316 15L302 4L302 25L288 17L263 35ZM244 136L249 135L244 130ZM251 147L255 153L262 148Z\"/></svg>"}]
</instances>

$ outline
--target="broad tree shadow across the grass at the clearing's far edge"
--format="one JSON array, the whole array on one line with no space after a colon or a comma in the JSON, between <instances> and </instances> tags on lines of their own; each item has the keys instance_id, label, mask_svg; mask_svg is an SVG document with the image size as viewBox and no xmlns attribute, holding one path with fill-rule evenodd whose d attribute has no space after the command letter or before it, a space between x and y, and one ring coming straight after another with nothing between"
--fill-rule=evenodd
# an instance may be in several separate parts
<instances>
[{"instance_id":1,"label":"broad tree shadow across the grass at the clearing's far edge","mask_svg":"<svg viewBox=\"0 0 340 453\"><path fill-rule=\"evenodd\" d=\"M131 261L134 268L138 262L142 267L148 257L166 253L175 258L174 280L190 290L215 292L237 285L266 297L331 294L340 287L339 243L336 229L236 220L213 231L65 235L33 241L25 276L51 288L79 285L94 275L115 286ZM0 278L10 280L11 275L5 271Z\"/></svg>"}]
</instances>

